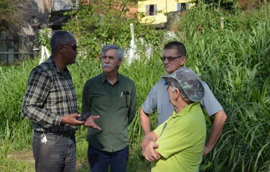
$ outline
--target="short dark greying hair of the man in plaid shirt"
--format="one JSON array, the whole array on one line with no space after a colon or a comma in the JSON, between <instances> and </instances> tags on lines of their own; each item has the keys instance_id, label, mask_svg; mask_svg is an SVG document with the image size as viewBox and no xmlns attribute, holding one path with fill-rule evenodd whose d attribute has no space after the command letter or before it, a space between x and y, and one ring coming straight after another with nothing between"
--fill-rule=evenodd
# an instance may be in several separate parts
<instances>
[{"instance_id":1,"label":"short dark greying hair of the man in plaid shirt","mask_svg":"<svg viewBox=\"0 0 270 172\"><path fill-rule=\"evenodd\" d=\"M71 39L74 39L74 35L72 33L63 30L55 31L50 41L52 54L57 52L59 45L65 45Z\"/></svg>"}]
</instances>

